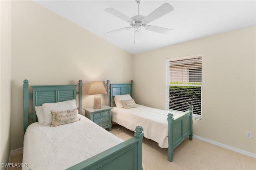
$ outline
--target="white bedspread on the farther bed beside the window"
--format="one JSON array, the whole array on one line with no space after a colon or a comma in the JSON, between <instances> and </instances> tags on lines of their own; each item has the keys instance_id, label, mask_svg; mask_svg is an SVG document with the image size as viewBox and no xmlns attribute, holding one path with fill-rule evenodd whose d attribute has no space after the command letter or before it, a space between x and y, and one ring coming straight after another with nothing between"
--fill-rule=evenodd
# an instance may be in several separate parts
<instances>
[{"instance_id":1,"label":"white bedspread on the farther bed beside the window","mask_svg":"<svg viewBox=\"0 0 256 170\"><path fill-rule=\"evenodd\" d=\"M168 148L168 113L170 112L138 105L130 109L114 107L111 110L111 117L112 121L129 130L134 130L137 125L142 126L146 138L158 142L161 148ZM176 119L180 114L173 115Z\"/></svg>"}]
</instances>

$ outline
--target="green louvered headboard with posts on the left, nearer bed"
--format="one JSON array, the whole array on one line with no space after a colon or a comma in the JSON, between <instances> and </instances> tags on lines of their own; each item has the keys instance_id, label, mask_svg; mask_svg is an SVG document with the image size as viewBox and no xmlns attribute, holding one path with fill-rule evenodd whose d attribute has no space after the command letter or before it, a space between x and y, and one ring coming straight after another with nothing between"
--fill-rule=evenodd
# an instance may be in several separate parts
<instances>
[{"instance_id":1,"label":"green louvered headboard with posts on the left, nearer bed","mask_svg":"<svg viewBox=\"0 0 256 170\"><path fill-rule=\"evenodd\" d=\"M23 81L23 114L24 114L24 133L29 125L28 120L32 119L37 122L35 106L42 106L44 103L56 103L77 99L78 95L78 111L82 114L82 80L76 85L33 85L33 93L28 94L28 80ZM76 87L78 86L78 91ZM29 99L33 99L33 107L29 107ZM29 114L29 108L33 109L33 113Z\"/></svg>"}]
</instances>

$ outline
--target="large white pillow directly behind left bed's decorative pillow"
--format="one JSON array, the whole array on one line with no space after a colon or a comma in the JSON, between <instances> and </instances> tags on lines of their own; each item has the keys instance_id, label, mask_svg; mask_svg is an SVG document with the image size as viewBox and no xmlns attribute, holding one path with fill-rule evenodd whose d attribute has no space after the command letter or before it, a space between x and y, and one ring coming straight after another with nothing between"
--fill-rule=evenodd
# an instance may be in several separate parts
<instances>
[{"instance_id":1,"label":"large white pillow directly behind left bed's decorative pillow","mask_svg":"<svg viewBox=\"0 0 256 170\"><path fill-rule=\"evenodd\" d=\"M57 103L44 103L42 106L44 110L44 125L52 125L51 111L66 111L77 108L75 99Z\"/></svg>"}]
</instances>

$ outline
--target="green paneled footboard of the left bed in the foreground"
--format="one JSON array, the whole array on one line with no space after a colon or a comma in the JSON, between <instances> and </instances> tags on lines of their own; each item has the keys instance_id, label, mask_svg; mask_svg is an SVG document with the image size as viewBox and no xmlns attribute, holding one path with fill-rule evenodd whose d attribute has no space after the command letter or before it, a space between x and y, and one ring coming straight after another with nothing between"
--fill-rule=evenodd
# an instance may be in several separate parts
<instances>
[{"instance_id":1,"label":"green paneled footboard of the left bed in the foreground","mask_svg":"<svg viewBox=\"0 0 256 170\"><path fill-rule=\"evenodd\" d=\"M142 170L143 129L137 126L134 137L67 170Z\"/></svg>"}]
</instances>

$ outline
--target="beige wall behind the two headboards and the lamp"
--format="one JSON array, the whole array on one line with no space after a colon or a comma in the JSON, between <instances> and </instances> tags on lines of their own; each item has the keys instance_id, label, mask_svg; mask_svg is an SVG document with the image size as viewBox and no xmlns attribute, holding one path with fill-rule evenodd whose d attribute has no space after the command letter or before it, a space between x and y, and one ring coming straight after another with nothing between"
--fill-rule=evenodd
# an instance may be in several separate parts
<instances>
[{"instance_id":1,"label":"beige wall behind the two headboards and the lamp","mask_svg":"<svg viewBox=\"0 0 256 170\"><path fill-rule=\"evenodd\" d=\"M82 107L91 107L91 81L128 82L132 54L35 2L13 1L11 150L23 146L24 79L30 85L77 84L82 79Z\"/></svg>"}]
</instances>

